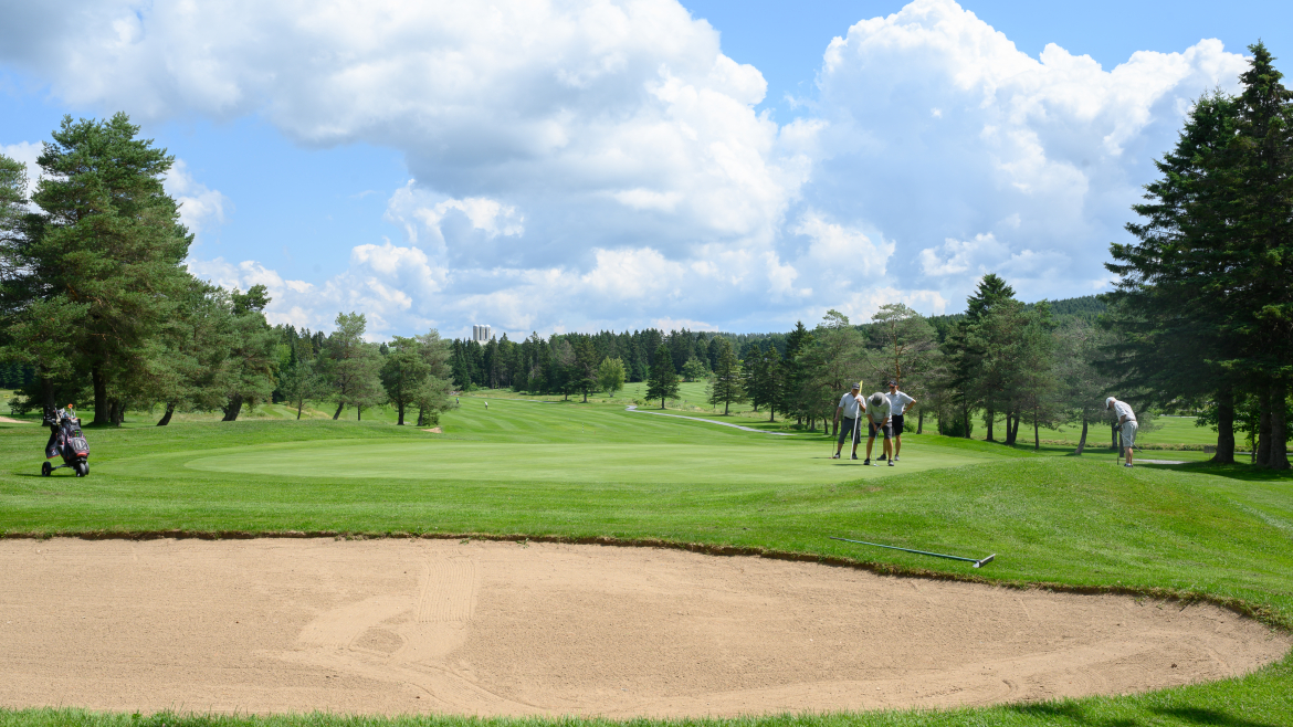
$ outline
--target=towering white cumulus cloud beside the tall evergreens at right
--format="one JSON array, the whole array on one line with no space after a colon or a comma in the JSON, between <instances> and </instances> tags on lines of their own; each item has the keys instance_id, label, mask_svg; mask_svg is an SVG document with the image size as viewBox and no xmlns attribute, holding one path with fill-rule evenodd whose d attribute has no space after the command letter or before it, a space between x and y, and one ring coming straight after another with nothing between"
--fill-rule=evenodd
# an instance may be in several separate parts
<instances>
[{"instance_id":1,"label":"towering white cumulus cloud beside the tall evergreens at right","mask_svg":"<svg viewBox=\"0 0 1293 727\"><path fill-rule=\"evenodd\" d=\"M984 270L1032 298L1085 294L1190 102L1244 67L1217 40L1112 70L1055 44L1033 58L950 0L915 0L824 54L837 151L815 203L860 206L897 243L896 272L949 298Z\"/></svg>"}]
</instances>

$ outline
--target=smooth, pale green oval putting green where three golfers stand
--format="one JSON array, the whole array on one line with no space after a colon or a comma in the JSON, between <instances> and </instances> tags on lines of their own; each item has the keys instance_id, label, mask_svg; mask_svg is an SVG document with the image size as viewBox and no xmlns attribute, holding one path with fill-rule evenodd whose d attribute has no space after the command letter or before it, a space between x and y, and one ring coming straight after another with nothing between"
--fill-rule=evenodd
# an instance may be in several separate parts
<instances>
[{"instance_id":1,"label":"smooth, pale green oval putting green where three golfers stand","mask_svg":"<svg viewBox=\"0 0 1293 727\"><path fill-rule=\"evenodd\" d=\"M759 437L765 435L750 435ZM840 483L984 461L974 453L908 448L895 467L830 459L822 446L750 444L502 444L314 441L197 457L204 472L296 477L392 477L551 483ZM864 445L865 446L865 445ZM846 455L847 457L847 455Z\"/></svg>"}]
</instances>

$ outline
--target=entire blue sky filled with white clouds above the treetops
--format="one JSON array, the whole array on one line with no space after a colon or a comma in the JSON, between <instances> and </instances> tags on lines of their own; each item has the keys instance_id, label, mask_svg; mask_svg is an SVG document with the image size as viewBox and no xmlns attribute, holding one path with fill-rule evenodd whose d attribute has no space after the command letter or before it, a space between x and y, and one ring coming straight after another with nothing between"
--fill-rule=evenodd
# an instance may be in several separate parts
<instances>
[{"instance_id":1,"label":"entire blue sky filled with white clouds above the treetops","mask_svg":"<svg viewBox=\"0 0 1293 727\"><path fill-rule=\"evenodd\" d=\"M0 150L124 110L197 274L375 338L1108 290L1190 101L1293 50L1256 1L0 5Z\"/></svg>"}]
</instances>

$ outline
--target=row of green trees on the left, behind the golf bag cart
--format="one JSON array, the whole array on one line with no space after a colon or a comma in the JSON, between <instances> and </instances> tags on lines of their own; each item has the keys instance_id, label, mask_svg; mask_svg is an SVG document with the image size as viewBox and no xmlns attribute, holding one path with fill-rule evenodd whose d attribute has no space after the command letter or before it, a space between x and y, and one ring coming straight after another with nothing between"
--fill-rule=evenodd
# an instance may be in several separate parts
<instances>
[{"instance_id":1,"label":"row of green trees on the left, behind the golf bag cart","mask_svg":"<svg viewBox=\"0 0 1293 727\"><path fill-rule=\"evenodd\" d=\"M92 402L93 424L125 411L221 411L306 400L390 402L403 423L449 407L449 345L436 331L363 340L362 314L328 335L272 327L264 286L242 292L185 266L193 234L163 180L175 158L124 114L72 120L26 166L0 155L0 366L17 411Z\"/></svg>"}]
</instances>

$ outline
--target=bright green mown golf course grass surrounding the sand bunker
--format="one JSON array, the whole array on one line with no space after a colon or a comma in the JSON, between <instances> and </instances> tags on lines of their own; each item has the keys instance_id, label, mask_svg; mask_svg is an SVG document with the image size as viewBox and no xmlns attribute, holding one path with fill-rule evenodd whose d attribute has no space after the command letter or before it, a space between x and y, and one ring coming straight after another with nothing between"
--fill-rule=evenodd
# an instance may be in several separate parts
<instances>
[{"instance_id":1,"label":"bright green mown golf course grass surrounding the sand bunker","mask_svg":"<svg viewBox=\"0 0 1293 727\"><path fill-rule=\"evenodd\" d=\"M372 410L362 423L266 417L92 429L88 479L37 476L44 432L0 424L0 533L481 533L702 543L1005 583L1208 598L1293 625L1287 475L1209 464L1125 470L1108 450L1072 457L1064 446L1033 453L934 435L905 435L897 467L864 468L829 459L833 442L820 433L773 436L630 413L622 404L515 396L463 397L445 415L442 435L393 427L392 419ZM1155 454L1192 453L1142 453ZM828 536L998 559L974 570ZM1287 657L1241 679L1125 697L693 722L1289 724L1290 693ZM469 721L0 710L0 727L127 722Z\"/></svg>"}]
</instances>

